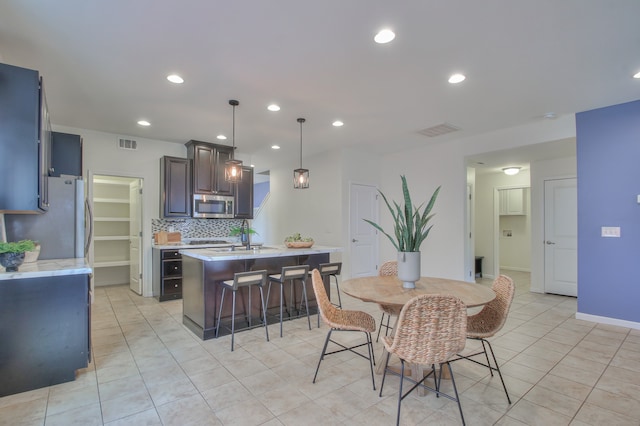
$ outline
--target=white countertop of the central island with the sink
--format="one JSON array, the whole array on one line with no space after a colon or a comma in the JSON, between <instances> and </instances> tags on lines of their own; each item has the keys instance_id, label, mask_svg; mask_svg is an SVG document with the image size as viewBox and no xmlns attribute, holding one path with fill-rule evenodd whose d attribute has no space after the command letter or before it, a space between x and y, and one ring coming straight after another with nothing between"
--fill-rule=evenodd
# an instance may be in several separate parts
<instances>
[{"instance_id":1,"label":"white countertop of the central island with the sink","mask_svg":"<svg viewBox=\"0 0 640 426\"><path fill-rule=\"evenodd\" d=\"M193 247L193 246L190 246ZM181 249L183 256L193 257L204 261L215 260L242 260L258 259L261 257L285 257L299 256L306 254L335 253L342 251L341 247L317 246L311 248L290 249L285 245L265 245L264 248L256 250L245 250L242 247L234 251L222 251L221 248L190 248Z\"/></svg>"}]
</instances>

